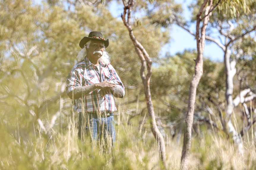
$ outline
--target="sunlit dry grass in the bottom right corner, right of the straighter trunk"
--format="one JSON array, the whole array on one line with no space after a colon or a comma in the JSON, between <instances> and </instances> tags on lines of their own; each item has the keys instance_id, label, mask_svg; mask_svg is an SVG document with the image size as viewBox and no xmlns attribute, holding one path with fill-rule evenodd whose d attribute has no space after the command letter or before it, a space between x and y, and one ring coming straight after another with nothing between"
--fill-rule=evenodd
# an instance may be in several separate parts
<instances>
[{"instance_id":1,"label":"sunlit dry grass in the bottom right corner, right of the straighter trunk","mask_svg":"<svg viewBox=\"0 0 256 170\"><path fill-rule=\"evenodd\" d=\"M242 152L225 135L205 132L193 138L190 153L191 169L255 169L256 148L244 143Z\"/></svg>"}]
</instances>

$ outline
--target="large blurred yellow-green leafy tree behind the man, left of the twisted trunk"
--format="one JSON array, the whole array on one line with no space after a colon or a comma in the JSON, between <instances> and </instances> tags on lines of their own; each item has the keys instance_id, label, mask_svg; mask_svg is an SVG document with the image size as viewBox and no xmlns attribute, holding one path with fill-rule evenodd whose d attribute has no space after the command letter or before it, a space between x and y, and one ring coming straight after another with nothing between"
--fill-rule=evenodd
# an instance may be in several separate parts
<instances>
[{"instance_id":1,"label":"large blurred yellow-green leafy tree behind the man, left of the twisted trunk","mask_svg":"<svg viewBox=\"0 0 256 170\"><path fill-rule=\"evenodd\" d=\"M137 73L128 71L137 67L125 27L103 5L68 10L63 1L32 2L0 1L1 114L14 134L18 116L19 129L29 133L39 126L48 136L51 129L60 132L61 126L56 124L70 115L65 80L67 70L77 62L82 37L92 30L103 30L111 37L108 50L119 75L128 77L124 79L127 86L138 84L129 78L138 77ZM122 46L127 48L120 49ZM126 64L131 61L134 64Z\"/></svg>"}]
</instances>

